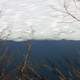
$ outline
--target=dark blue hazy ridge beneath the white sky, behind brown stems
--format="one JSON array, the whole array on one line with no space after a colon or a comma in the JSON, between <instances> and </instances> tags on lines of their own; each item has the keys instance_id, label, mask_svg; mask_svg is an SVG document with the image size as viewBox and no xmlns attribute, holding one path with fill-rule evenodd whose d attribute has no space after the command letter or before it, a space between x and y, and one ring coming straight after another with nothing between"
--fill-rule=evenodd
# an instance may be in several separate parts
<instances>
[{"instance_id":1,"label":"dark blue hazy ridge beneath the white sky, behind brown stems","mask_svg":"<svg viewBox=\"0 0 80 80\"><path fill-rule=\"evenodd\" d=\"M14 42L14 41L1 41L0 42L0 55L5 53L11 57L11 63L5 64L8 70L15 68L15 66L23 60L27 46L26 42ZM6 47L8 50L5 52ZM58 64L64 65L64 59L70 58L71 60L79 61L80 57L80 41L70 40L32 40L32 64L45 64L49 61L58 62ZM50 63L51 64L51 63ZM61 65L61 66L62 66ZM64 69L64 68L63 68ZM49 75L52 79L51 72L47 69L41 70L42 75ZM53 79L56 79L55 77Z\"/></svg>"}]
</instances>

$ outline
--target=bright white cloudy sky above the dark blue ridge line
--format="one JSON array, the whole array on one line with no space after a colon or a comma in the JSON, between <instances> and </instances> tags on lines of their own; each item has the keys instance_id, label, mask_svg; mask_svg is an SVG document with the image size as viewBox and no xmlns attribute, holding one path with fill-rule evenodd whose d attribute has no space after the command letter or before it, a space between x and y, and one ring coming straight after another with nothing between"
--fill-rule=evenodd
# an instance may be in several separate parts
<instances>
[{"instance_id":1,"label":"bright white cloudy sky above the dark blue ridge line","mask_svg":"<svg viewBox=\"0 0 80 80\"><path fill-rule=\"evenodd\" d=\"M73 1L66 5L80 19ZM80 22L65 13L64 0L0 0L0 39L31 38L80 40Z\"/></svg>"}]
</instances>

